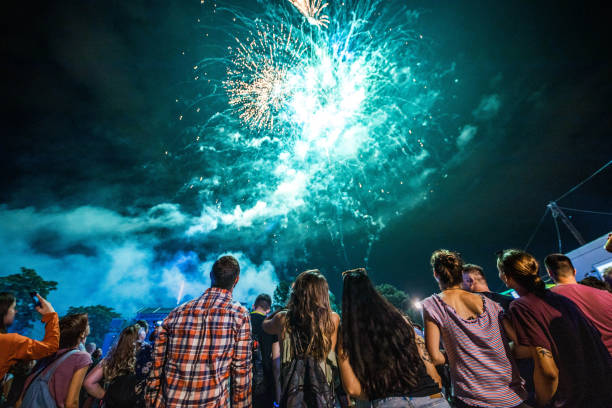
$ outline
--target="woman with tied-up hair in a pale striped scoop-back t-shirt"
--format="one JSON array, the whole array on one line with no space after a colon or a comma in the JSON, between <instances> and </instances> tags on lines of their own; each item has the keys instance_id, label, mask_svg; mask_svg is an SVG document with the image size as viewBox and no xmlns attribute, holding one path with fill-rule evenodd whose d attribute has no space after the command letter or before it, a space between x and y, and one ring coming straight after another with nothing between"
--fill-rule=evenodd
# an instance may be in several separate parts
<instances>
[{"instance_id":1,"label":"woman with tied-up hair in a pale striped scoop-back t-shirt","mask_svg":"<svg viewBox=\"0 0 612 408\"><path fill-rule=\"evenodd\" d=\"M435 365L448 361L457 407L525 407L522 379L500 321L502 307L461 288L463 260L457 252L437 250L430 262L442 292L422 302L425 341Z\"/></svg>"}]
</instances>

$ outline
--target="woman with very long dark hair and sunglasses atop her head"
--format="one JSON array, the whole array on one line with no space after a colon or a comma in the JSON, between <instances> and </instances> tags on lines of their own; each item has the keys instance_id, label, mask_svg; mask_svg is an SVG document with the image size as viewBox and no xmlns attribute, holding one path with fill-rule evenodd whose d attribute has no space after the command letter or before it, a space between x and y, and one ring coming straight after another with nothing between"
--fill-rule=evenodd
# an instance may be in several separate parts
<instances>
[{"instance_id":1,"label":"woman with very long dark hair and sunglasses atop her head","mask_svg":"<svg viewBox=\"0 0 612 408\"><path fill-rule=\"evenodd\" d=\"M382 407L449 407L422 337L372 285L363 268L343 272L338 362L347 393Z\"/></svg>"}]
</instances>

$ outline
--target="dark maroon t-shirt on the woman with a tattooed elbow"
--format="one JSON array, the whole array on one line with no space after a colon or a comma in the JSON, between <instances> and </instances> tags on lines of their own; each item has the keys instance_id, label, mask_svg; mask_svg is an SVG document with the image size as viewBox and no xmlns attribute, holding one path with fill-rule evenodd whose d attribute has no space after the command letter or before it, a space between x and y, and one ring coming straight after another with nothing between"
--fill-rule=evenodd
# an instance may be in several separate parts
<instances>
[{"instance_id":1,"label":"dark maroon t-shirt on the woman with a tattooed elbow","mask_svg":"<svg viewBox=\"0 0 612 408\"><path fill-rule=\"evenodd\" d=\"M553 355L559 385L550 407L610 407L612 357L572 301L551 291L542 297L528 294L512 302L508 316L520 344Z\"/></svg>"}]
</instances>

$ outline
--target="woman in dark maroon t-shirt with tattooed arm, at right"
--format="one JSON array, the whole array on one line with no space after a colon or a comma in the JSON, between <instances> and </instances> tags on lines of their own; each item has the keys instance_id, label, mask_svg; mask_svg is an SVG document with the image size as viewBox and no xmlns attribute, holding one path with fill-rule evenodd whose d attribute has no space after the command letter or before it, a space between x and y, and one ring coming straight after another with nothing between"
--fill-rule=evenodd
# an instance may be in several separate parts
<instances>
[{"instance_id":1,"label":"woman in dark maroon t-shirt with tattooed arm, at right","mask_svg":"<svg viewBox=\"0 0 612 408\"><path fill-rule=\"evenodd\" d=\"M500 251L497 269L520 296L505 323L513 342L533 358L538 405L610 407L612 358L599 331L571 300L546 289L532 255Z\"/></svg>"}]
</instances>

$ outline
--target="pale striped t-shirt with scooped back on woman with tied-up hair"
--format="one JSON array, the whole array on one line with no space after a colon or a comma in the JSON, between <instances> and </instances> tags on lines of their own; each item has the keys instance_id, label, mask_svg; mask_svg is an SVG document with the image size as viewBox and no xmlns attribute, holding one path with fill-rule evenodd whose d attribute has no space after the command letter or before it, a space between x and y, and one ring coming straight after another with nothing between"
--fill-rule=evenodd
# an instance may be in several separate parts
<instances>
[{"instance_id":1,"label":"pale striped t-shirt with scooped back on woman with tied-up hair","mask_svg":"<svg viewBox=\"0 0 612 408\"><path fill-rule=\"evenodd\" d=\"M463 319L439 295L423 301L423 309L440 328L457 398L468 405L515 407L524 389L510 360L501 329L501 306L482 296L484 310Z\"/></svg>"}]
</instances>

